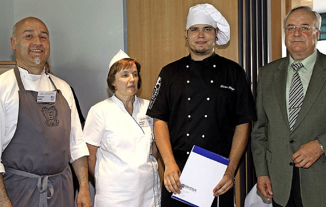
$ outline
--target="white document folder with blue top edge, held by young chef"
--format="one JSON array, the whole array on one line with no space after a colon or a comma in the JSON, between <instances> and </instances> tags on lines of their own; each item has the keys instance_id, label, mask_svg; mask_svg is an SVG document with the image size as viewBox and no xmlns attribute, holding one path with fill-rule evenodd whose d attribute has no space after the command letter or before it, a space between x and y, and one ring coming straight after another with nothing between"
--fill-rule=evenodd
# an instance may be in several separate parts
<instances>
[{"instance_id":1,"label":"white document folder with blue top edge, held by young chef","mask_svg":"<svg viewBox=\"0 0 326 207\"><path fill-rule=\"evenodd\" d=\"M230 160L194 145L182 170L180 194L172 198L192 206L211 206L213 189L222 180Z\"/></svg>"}]
</instances>

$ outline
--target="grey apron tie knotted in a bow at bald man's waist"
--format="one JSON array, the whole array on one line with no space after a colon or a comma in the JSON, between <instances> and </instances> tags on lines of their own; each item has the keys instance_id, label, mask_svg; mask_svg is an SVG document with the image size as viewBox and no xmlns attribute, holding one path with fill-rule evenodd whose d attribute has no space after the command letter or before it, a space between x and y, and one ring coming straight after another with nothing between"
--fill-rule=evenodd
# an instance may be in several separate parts
<instances>
[{"instance_id":1,"label":"grey apron tie knotted in a bow at bald man's waist","mask_svg":"<svg viewBox=\"0 0 326 207\"><path fill-rule=\"evenodd\" d=\"M65 169L67 169L67 167ZM36 175L36 174L30 173L30 172L17 170L17 169L10 168L10 167L5 167L5 170L6 170L6 173L9 172L9 173L21 175L24 177L38 178L37 189L40 192L39 207L47 207L47 199L50 199L53 196L53 194L55 193L55 189L53 189L52 183L50 182L50 180L48 178L59 175L64 171L63 170L62 172L59 172L58 174L54 174L54 175ZM50 197L47 196L47 190L49 190Z\"/></svg>"}]
</instances>

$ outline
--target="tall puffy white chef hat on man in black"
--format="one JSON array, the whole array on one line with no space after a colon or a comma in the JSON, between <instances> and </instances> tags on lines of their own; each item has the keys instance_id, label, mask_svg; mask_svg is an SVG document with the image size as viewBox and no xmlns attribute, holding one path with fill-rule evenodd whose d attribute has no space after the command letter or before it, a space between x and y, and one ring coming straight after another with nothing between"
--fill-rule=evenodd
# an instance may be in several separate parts
<instances>
[{"instance_id":1,"label":"tall puffy white chef hat on man in black","mask_svg":"<svg viewBox=\"0 0 326 207\"><path fill-rule=\"evenodd\" d=\"M215 7L210 4L198 4L189 9L186 30L195 24L208 24L218 28L218 40L216 44L223 45L230 40L230 25Z\"/></svg>"}]
</instances>

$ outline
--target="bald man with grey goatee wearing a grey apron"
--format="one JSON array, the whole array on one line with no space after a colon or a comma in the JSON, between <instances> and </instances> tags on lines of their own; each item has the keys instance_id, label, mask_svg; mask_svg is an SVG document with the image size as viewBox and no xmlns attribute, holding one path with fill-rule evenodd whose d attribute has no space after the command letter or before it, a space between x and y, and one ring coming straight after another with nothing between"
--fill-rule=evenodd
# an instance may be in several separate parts
<instances>
[{"instance_id":1,"label":"bald man with grey goatee wearing a grey apron","mask_svg":"<svg viewBox=\"0 0 326 207\"><path fill-rule=\"evenodd\" d=\"M17 66L0 75L0 203L73 206L72 162L78 206L91 206L89 152L67 83L47 74L49 32L35 17L18 21L12 49Z\"/></svg>"}]
</instances>

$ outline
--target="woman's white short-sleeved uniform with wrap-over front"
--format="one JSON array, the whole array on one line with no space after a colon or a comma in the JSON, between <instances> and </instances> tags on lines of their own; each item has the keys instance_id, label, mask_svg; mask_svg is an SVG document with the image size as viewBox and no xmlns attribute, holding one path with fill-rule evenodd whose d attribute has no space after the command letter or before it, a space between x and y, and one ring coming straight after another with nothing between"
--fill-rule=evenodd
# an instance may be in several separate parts
<instances>
[{"instance_id":1,"label":"woman's white short-sleeved uniform with wrap-over front","mask_svg":"<svg viewBox=\"0 0 326 207\"><path fill-rule=\"evenodd\" d=\"M86 118L87 143L99 146L95 206L160 206L157 161L152 156L149 101L135 96L132 116L115 95L93 106Z\"/></svg>"}]
</instances>

